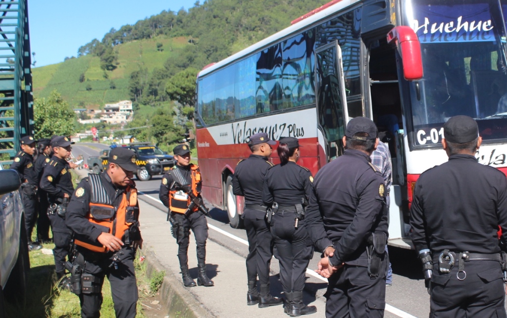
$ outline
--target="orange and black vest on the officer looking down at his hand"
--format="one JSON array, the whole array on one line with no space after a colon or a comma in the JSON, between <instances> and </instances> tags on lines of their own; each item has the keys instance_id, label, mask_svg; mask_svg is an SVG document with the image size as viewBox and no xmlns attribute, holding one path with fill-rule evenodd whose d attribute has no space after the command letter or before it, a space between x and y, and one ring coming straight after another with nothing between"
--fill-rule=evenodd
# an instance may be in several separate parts
<instances>
[{"instance_id":1,"label":"orange and black vest on the officer looking down at his hand","mask_svg":"<svg viewBox=\"0 0 507 318\"><path fill-rule=\"evenodd\" d=\"M116 209L107 195L99 174L89 174L91 185L90 210L87 214L89 222L102 232L115 235L122 240L123 235L129 227L137 221L139 209L137 206L137 189L127 186L123 193L120 206ZM80 240L74 240L78 246L89 249L93 252L105 253L107 248L100 243L87 243Z\"/></svg>"}]
</instances>

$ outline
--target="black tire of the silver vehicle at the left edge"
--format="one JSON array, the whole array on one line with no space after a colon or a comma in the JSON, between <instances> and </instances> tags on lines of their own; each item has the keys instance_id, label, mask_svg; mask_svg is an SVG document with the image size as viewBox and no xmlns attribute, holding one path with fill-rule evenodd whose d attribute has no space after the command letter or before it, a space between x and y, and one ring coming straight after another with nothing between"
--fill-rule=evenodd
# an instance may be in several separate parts
<instances>
[{"instance_id":1,"label":"black tire of the silver vehicle at the left edge","mask_svg":"<svg viewBox=\"0 0 507 318\"><path fill-rule=\"evenodd\" d=\"M19 234L18 259L7 280L4 296L10 303L18 303L22 308L26 304L26 291L28 290L28 271L30 258L28 256L28 239L24 226L24 217L21 218L21 231Z\"/></svg>"}]
</instances>

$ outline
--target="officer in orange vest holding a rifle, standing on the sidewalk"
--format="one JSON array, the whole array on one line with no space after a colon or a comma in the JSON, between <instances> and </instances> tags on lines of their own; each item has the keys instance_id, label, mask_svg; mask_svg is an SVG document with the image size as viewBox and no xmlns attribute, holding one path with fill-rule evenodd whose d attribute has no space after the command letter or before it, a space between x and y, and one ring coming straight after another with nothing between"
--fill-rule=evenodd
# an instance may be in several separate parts
<instances>
[{"instance_id":1,"label":"officer in orange vest holding a rifle, standing on the sidewalk","mask_svg":"<svg viewBox=\"0 0 507 318\"><path fill-rule=\"evenodd\" d=\"M197 284L213 286L206 275L206 240L208 238L208 222L197 207L187 211L190 207L190 196L185 191L192 191L200 198L201 193L201 172L199 167L190 163L190 149L187 145L177 145L173 149L176 166L162 177L159 197L162 203L169 208L169 220L171 231L178 244L179 267L182 270L183 283L186 287L194 287L195 282L189 274L188 249L190 243L190 230L194 232L197 243L197 261L199 276ZM177 182L182 188L175 188ZM186 184L182 184L186 183ZM202 198L201 198L202 203Z\"/></svg>"}]
</instances>

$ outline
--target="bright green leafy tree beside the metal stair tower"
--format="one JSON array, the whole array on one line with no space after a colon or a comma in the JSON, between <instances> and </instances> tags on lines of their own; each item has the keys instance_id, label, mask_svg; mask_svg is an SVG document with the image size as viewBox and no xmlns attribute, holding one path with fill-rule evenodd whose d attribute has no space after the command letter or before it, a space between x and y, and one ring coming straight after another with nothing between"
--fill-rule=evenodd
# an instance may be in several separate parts
<instances>
[{"instance_id":1,"label":"bright green leafy tree beside the metal stair tower","mask_svg":"<svg viewBox=\"0 0 507 318\"><path fill-rule=\"evenodd\" d=\"M51 138L53 135L71 136L75 132L76 114L56 90L51 92L47 99L35 99L33 120L35 138Z\"/></svg>"}]
</instances>

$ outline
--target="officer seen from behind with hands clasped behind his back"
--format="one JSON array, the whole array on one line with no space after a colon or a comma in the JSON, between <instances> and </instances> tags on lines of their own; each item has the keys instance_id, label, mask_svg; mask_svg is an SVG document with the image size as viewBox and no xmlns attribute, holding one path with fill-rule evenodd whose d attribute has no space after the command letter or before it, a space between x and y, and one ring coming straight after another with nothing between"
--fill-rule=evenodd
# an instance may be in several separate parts
<instances>
[{"instance_id":1,"label":"officer seen from behind with hands clasped behind his back","mask_svg":"<svg viewBox=\"0 0 507 318\"><path fill-rule=\"evenodd\" d=\"M310 236L324 252L317 272L328 278L327 317L382 317L385 307L387 211L379 169L370 163L377 127L355 117L345 152L319 170L307 211Z\"/></svg>"}]
</instances>

